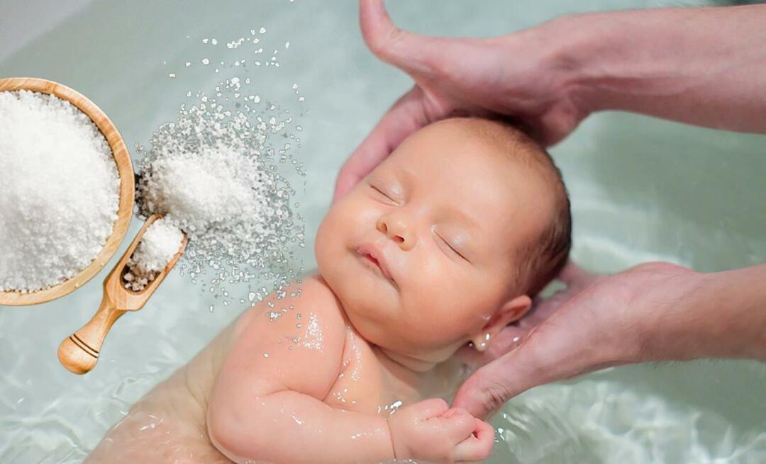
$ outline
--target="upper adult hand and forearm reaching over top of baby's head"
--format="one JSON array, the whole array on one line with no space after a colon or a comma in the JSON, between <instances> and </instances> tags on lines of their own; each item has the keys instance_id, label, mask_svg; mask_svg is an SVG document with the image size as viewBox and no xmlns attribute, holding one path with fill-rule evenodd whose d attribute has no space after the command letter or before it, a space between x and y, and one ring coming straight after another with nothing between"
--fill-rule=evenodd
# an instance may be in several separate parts
<instances>
[{"instance_id":1,"label":"upper adult hand and forearm reaching over top of baby's head","mask_svg":"<svg viewBox=\"0 0 766 464\"><path fill-rule=\"evenodd\" d=\"M362 0L362 35L415 86L345 162L334 201L415 130L449 116L496 116L553 145L594 111L766 133L766 5L568 15L496 38L401 31Z\"/></svg>"}]
</instances>

